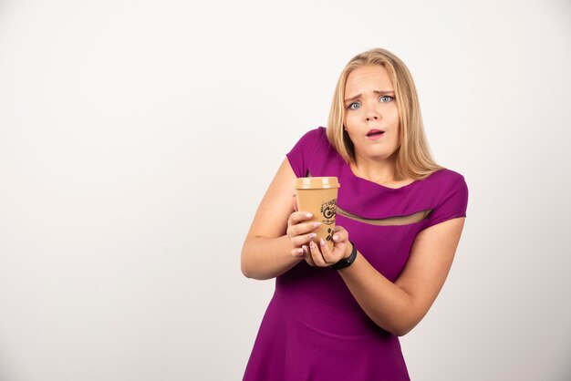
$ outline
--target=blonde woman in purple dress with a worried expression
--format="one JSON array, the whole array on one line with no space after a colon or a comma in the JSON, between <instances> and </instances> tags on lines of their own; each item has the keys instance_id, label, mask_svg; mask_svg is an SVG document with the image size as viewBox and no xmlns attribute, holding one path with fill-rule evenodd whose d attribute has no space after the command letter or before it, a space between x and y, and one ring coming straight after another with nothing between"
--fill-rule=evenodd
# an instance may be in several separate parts
<instances>
[{"instance_id":1,"label":"blonde woman in purple dress with a worried expression","mask_svg":"<svg viewBox=\"0 0 571 381\"><path fill-rule=\"evenodd\" d=\"M341 184L333 250L296 211L306 176ZM242 272L276 282L244 380L410 379L398 336L440 292L467 201L431 158L407 67L379 48L352 58L327 129L286 155L246 236Z\"/></svg>"}]
</instances>

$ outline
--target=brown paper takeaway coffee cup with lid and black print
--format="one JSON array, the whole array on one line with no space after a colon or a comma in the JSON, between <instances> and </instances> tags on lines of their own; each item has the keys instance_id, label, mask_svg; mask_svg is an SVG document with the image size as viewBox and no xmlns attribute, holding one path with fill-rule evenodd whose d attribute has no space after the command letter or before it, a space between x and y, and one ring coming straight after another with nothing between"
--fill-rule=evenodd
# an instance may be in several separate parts
<instances>
[{"instance_id":1,"label":"brown paper takeaway coffee cup with lid and black print","mask_svg":"<svg viewBox=\"0 0 571 381\"><path fill-rule=\"evenodd\" d=\"M298 211L309 211L313 214L309 221L321 222L314 241L319 244L323 238L330 250L333 250L339 187L337 177L303 177L296 180Z\"/></svg>"}]
</instances>

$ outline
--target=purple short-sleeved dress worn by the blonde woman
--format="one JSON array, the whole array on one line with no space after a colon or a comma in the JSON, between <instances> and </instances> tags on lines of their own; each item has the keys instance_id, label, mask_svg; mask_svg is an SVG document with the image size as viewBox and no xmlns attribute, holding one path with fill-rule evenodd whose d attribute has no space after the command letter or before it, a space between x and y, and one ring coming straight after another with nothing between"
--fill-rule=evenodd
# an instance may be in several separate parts
<instances>
[{"instance_id":1,"label":"purple short-sleeved dress worn by the blonde woman","mask_svg":"<svg viewBox=\"0 0 571 381\"><path fill-rule=\"evenodd\" d=\"M347 229L358 251L391 282L422 229L466 215L468 189L462 175L438 170L398 189L383 187L355 176L322 127L307 132L287 159L297 177L337 176L337 225ZM420 211L427 214L420 221L375 223ZM409 379L399 338L369 319L336 271L300 262L276 278L244 380Z\"/></svg>"}]
</instances>

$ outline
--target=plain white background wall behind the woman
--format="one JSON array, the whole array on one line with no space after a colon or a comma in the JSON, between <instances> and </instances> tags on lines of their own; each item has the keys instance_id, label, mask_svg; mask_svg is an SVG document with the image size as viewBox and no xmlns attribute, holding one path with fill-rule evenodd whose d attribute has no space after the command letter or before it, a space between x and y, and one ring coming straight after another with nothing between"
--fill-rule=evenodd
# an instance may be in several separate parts
<instances>
[{"instance_id":1,"label":"plain white background wall behind the woman","mask_svg":"<svg viewBox=\"0 0 571 381\"><path fill-rule=\"evenodd\" d=\"M0 2L0 379L241 379L255 208L376 46L471 192L410 376L570 379L567 0Z\"/></svg>"}]
</instances>

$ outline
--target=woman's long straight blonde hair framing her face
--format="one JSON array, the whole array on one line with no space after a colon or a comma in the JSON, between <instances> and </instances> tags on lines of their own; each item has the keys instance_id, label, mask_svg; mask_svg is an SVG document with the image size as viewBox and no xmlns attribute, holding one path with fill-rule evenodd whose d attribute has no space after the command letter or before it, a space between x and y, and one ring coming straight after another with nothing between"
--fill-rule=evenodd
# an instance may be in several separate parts
<instances>
[{"instance_id":1,"label":"woman's long straight blonde hair framing her face","mask_svg":"<svg viewBox=\"0 0 571 381\"><path fill-rule=\"evenodd\" d=\"M358 67L380 65L389 73L400 118L400 148L397 152L397 179L421 180L442 167L432 159L424 135L420 104L409 69L388 50L375 48L353 57L341 72L333 95L327 121L327 139L341 157L355 162L355 147L343 126L345 117L345 85L349 74Z\"/></svg>"}]
</instances>

